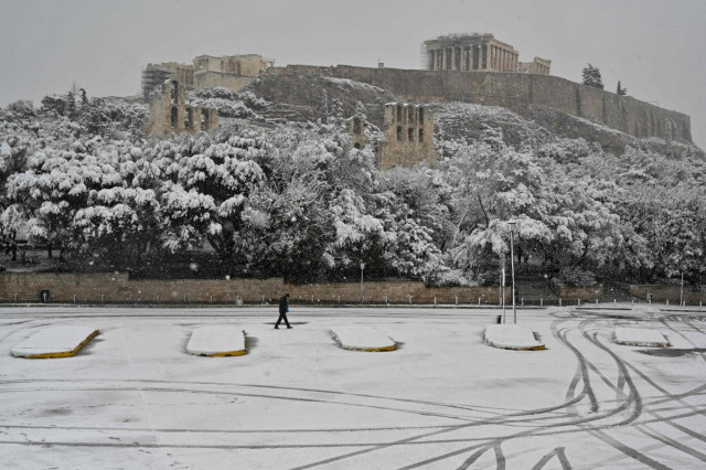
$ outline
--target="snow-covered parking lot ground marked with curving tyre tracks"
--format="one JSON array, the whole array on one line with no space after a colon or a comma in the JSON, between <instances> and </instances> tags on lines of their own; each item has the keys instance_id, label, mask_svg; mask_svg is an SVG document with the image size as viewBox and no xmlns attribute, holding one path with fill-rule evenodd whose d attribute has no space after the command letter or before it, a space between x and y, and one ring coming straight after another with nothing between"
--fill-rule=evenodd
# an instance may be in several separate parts
<instances>
[{"instance_id":1,"label":"snow-covered parking lot ground marked with curving tyre tracks","mask_svg":"<svg viewBox=\"0 0 706 470\"><path fill-rule=\"evenodd\" d=\"M496 310L0 308L0 468L700 469L706 310L518 310L545 351L483 342ZM11 349L100 330L76 356ZM194 329L247 354L186 353ZM347 351L336 327L397 350ZM663 331L672 348L619 345Z\"/></svg>"}]
</instances>

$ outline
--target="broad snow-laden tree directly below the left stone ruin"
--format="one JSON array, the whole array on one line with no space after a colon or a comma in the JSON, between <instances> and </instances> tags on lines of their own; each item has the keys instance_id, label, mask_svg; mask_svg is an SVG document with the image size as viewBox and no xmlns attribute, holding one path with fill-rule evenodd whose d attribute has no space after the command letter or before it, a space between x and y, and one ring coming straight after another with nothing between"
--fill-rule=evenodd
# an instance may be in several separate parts
<instances>
[{"instance_id":1,"label":"broad snow-laden tree directly below the left stone ruin","mask_svg":"<svg viewBox=\"0 0 706 470\"><path fill-rule=\"evenodd\" d=\"M172 252L201 246L205 241L222 263L232 263L250 192L265 173L258 160L269 145L257 133L205 133L163 141L152 151L163 175L159 189L164 246Z\"/></svg>"}]
</instances>

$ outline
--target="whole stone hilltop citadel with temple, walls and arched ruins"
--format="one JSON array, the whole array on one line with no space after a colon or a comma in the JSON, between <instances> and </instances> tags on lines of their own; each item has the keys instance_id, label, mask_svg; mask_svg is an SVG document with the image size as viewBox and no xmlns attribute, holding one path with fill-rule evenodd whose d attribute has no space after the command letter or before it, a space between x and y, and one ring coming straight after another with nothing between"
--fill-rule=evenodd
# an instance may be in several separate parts
<instances>
[{"instance_id":1,"label":"whole stone hilltop citadel with temple, walls and arched ruins","mask_svg":"<svg viewBox=\"0 0 706 470\"><path fill-rule=\"evenodd\" d=\"M278 67L274 60L257 54L200 55L192 64L148 64L142 72L142 96L151 100L148 131L164 135L218 126L215 110L191 109L185 105L183 97L180 98L184 87L222 86L240 92L261 77L297 76L354 81L388 90L399 100L414 104L384 106L374 121L386 138L378 148L382 169L434 161L432 110L425 105L445 102L500 106L518 114L559 113L637 138L692 142L687 115L553 76L552 61L534 57L532 62L521 62L520 52L493 34L443 35L425 41L424 50L426 70L388 68L384 64L378 67ZM171 81L170 85L165 81ZM160 86L161 94L156 97L154 90ZM307 98L297 96L296 100ZM357 147L363 147L365 142L360 135L356 137L356 129L361 128L352 116L352 139Z\"/></svg>"}]
</instances>

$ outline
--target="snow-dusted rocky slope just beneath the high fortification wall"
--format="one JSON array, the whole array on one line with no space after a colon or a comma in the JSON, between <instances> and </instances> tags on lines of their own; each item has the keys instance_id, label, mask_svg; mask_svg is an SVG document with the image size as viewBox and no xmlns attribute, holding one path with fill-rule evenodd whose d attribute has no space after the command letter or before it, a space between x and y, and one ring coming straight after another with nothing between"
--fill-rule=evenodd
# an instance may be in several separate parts
<instances>
[{"instance_id":1,"label":"snow-dusted rocky slope just beneath the high fortification wall","mask_svg":"<svg viewBox=\"0 0 706 470\"><path fill-rule=\"evenodd\" d=\"M270 102L263 115L278 121L317 120L340 104L343 117L365 113L367 120L382 127L385 103L400 100L389 90L345 78L322 75L263 74L250 90ZM500 128L504 140L513 147L536 146L555 139L582 138L596 142L606 152L622 154L625 148L649 148L675 157L704 152L688 142L638 139L605 125L591 122L556 109L531 106L517 114L505 108L468 103L435 103L437 138L445 140L477 140L485 127Z\"/></svg>"}]
</instances>

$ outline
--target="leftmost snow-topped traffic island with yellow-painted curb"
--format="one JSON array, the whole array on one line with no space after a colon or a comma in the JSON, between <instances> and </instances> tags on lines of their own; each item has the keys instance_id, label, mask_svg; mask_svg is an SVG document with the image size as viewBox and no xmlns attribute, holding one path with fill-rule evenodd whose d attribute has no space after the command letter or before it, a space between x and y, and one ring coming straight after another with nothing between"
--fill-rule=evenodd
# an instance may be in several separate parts
<instances>
[{"instance_id":1,"label":"leftmost snow-topped traffic island with yellow-painted curb","mask_svg":"<svg viewBox=\"0 0 706 470\"><path fill-rule=\"evenodd\" d=\"M98 333L90 327L45 328L14 346L12 355L25 359L71 357Z\"/></svg>"}]
</instances>

